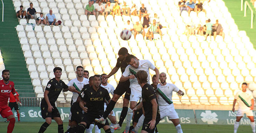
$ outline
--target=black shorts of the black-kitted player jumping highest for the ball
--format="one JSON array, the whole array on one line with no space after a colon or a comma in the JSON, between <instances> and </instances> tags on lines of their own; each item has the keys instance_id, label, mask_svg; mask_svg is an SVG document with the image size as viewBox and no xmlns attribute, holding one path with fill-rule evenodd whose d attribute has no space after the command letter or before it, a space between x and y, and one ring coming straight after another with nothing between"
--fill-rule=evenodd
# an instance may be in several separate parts
<instances>
[{"instance_id":1,"label":"black shorts of the black-kitted player jumping highest for the ball","mask_svg":"<svg viewBox=\"0 0 256 133\"><path fill-rule=\"evenodd\" d=\"M116 89L114 90L114 94L121 96L123 93L125 93L124 98L130 100L131 88L129 80L125 82L119 82Z\"/></svg>"}]
</instances>

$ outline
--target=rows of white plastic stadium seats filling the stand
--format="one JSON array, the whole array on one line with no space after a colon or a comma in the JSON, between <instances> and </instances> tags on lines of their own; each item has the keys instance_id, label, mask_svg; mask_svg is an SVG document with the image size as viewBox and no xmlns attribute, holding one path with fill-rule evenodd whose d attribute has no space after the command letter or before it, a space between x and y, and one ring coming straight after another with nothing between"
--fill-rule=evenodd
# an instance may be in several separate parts
<instances>
[{"instance_id":1,"label":"rows of white plastic stadium seats filling the stand","mask_svg":"<svg viewBox=\"0 0 256 133\"><path fill-rule=\"evenodd\" d=\"M119 0L122 2L122 0ZM36 25L34 19L20 19L16 31L25 56L28 71L37 97L43 97L44 88L53 78L53 68L62 68L61 79L68 83L76 78L75 67L83 65L90 75L109 73L116 64L117 52L126 47L130 54L139 59L151 61L160 72L167 73L167 82L175 84L185 92L182 97L173 93L174 104L233 104L234 95L241 83L246 81L256 96L256 52L245 31L239 31L222 0L211 0L204 5L207 14L183 11L180 16L178 0L131 0L127 5L141 3L150 14L160 17L163 36L153 41L142 35L128 41L120 38L123 25L130 20L135 23L137 16L94 15L85 16L88 0L13 0L14 7L27 10L33 2L38 12L47 14L53 10L61 26ZM39 15L39 14L38 14ZM222 24L225 39L217 36L210 41L204 36L189 36L184 33L190 23L204 24L210 18ZM143 22L143 19L141 20ZM29 24L27 24L29 23ZM4 66L3 66L4 67ZM153 76L154 72L150 71ZM108 79L116 86L121 71ZM61 93L58 102L69 102L72 93ZM122 99L119 100L122 102Z\"/></svg>"}]
</instances>

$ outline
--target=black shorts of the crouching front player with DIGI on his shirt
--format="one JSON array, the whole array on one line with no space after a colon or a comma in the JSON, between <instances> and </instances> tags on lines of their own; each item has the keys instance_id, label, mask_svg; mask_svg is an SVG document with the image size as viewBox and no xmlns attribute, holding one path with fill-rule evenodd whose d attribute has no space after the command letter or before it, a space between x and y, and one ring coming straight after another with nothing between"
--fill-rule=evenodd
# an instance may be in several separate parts
<instances>
[{"instance_id":1,"label":"black shorts of the crouching front player with DIGI on his shirt","mask_svg":"<svg viewBox=\"0 0 256 133\"><path fill-rule=\"evenodd\" d=\"M85 122L86 123L86 128L88 129L90 127L90 124L92 122L94 122L94 119L96 119L96 118L100 118L100 116L95 115L95 114L85 113L85 114L83 114L83 119L82 119L81 122ZM97 123L97 122L95 122L94 124L97 125L99 127L99 129L103 128L104 126L109 125L108 120L106 120L106 123L104 125L100 124L100 123Z\"/></svg>"}]
</instances>

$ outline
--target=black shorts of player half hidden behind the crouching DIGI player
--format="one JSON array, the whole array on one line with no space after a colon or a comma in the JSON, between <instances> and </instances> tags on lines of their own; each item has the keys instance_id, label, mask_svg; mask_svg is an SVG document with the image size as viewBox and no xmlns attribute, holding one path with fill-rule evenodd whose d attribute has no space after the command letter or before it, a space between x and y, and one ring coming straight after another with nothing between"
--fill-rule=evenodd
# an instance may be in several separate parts
<instances>
[{"instance_id":1,"label":"black shorts of player half hidden behind the crouching DIGI player","mask_svg":"<svg viewBox=\"0 0 256 133\"><path fill-rule=\"evenodd\" d=\"M82 113L82 109L79 106L79 103L75 102L71 106L70 112L71 112L70 122L76 121L76 123L80 123L81 120L83 119L83 113Z\"/></svg>"}]
</instances>

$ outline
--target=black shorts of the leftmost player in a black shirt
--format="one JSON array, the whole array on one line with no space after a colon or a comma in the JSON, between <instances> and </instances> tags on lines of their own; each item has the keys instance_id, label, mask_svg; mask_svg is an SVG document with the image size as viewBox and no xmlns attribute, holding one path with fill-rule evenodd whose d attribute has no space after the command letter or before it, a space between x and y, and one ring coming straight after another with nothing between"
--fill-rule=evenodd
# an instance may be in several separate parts
<instances>
[{"instance_id":1,"label":"black shorts of the leftmost player in a black shirt","mask_svg":"<svg viewBox=\"0 0 256 133\"><path fill-rule=\"evenodd\" d=\"M42 118L45 119L47 117L51 117L52 119L54 117L60 117L60 112L59 110L56 108L55 104L54 103L51 103L53 109L52 109L52 112L48 112L48 105L45 101L45 99L43 99L41 101L41 104L40 104L40 107L41 107L41 115L42 115Z\"/></svg>"}]
</instances>

